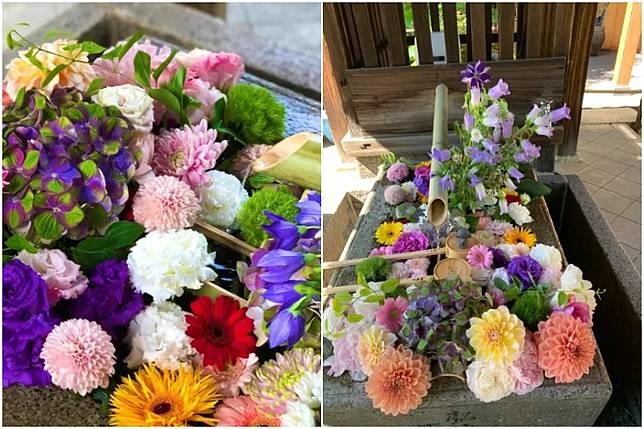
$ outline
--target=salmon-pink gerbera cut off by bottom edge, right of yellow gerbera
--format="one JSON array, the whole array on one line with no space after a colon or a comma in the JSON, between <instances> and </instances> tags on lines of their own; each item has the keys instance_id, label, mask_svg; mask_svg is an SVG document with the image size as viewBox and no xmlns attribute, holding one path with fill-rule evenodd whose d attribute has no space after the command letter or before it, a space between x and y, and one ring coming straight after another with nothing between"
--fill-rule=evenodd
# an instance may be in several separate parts
<instances>
[{"instance_id":1,"label":"salmon-pink gerbera cut off by bottom edge, right of yellow gerbera","mask_svg":"<svg viewBox=\"0 0 644 429\"><path fill-rule=\"evenodd\" d=\"M215 412L217 426L224 427L275 427L281 426L280 419L263 413L257 402L248 396L226 398Z\"/></svg>"}]
</instances>

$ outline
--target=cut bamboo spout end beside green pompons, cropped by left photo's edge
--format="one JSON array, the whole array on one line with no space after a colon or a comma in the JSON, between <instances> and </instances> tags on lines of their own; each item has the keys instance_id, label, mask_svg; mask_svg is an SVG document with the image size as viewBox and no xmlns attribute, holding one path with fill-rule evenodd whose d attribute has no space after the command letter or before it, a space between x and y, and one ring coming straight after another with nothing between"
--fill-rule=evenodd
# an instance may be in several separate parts
<instances>
[{"instance_id":1,"label":"cut bamboo spout end beside green pompons, cropped by left photo's edge","mask_svg":"<svg viewBox=\"0 0 644 429\"><path fill-rule=\"evenodd\" d=\"M299 133L275 144L253 164L253 171L308 189L321 190L322 141L319 134Z\"/></svg>"}]
</instances>

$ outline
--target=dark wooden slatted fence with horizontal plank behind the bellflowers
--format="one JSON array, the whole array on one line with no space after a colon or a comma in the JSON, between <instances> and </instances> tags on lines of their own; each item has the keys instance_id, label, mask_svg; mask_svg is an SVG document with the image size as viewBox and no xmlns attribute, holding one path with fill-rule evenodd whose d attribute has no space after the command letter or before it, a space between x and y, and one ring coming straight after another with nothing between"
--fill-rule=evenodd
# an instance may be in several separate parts
<instances>
[{"instance_id":1,"label":"dark wooden slatted fence with horizontal plank behind the bellflowers","mask_svg":"<svg viewBox=\"0 0 644 429\"><path fill-rule=\"evenodd\" d=\"M550 142L537 143L575 153L596 3L411 3L407 8L413 29L406 28L402 3L324 4L324 107L344 154L418 152L428 146L433 88L447 84L450 121L461 119L466 88L459 71L479 59L492 67L494 78L509 82L508 101L517 119L532 103L566 102L572 119Z\"/></svg>"}]
</instances>

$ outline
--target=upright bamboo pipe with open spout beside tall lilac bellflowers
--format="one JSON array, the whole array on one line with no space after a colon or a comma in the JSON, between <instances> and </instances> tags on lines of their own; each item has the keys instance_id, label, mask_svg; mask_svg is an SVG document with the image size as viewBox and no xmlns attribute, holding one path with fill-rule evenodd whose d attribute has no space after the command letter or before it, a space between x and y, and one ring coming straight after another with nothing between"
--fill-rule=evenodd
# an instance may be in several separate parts
<instances>
[{"instance_id":1,"label":"upright bamboo pipe with open spout beside tall lilac bellflowers","mask_svg":"<svg viewBox=\"0 0 644 429\"><path fill-rule=\"evenodd\" d=\"M434 99L434 127L432 130L432 150L445 149L447 146L447 86L441 83L436 87ZM432 159L432 170L439 165ZM438 177L429 179L429 201L427 202L427 221L435 227L440 227L449 214L447 192L438 183Z\"/></svg>"}]
</instances>

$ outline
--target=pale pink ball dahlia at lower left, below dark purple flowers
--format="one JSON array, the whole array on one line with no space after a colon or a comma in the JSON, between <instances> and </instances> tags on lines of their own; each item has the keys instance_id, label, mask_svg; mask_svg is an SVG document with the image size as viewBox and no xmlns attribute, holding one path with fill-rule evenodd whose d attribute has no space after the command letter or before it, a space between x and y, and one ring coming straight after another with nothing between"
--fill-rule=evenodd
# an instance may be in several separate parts
<instances>
[{"instance_id":1,"label":"pale pink ball dahlia at lower left, below dark purple flowers","mask_svg":"<svg viewBox=\"0 0 644 429\"><path fill-rule=\"evenodd\" d=\"M107 387L114 374L114 346L96 322L70 319L47 335L40 358L52 382L85 396Z\"/></svg>"}]
</instances>

